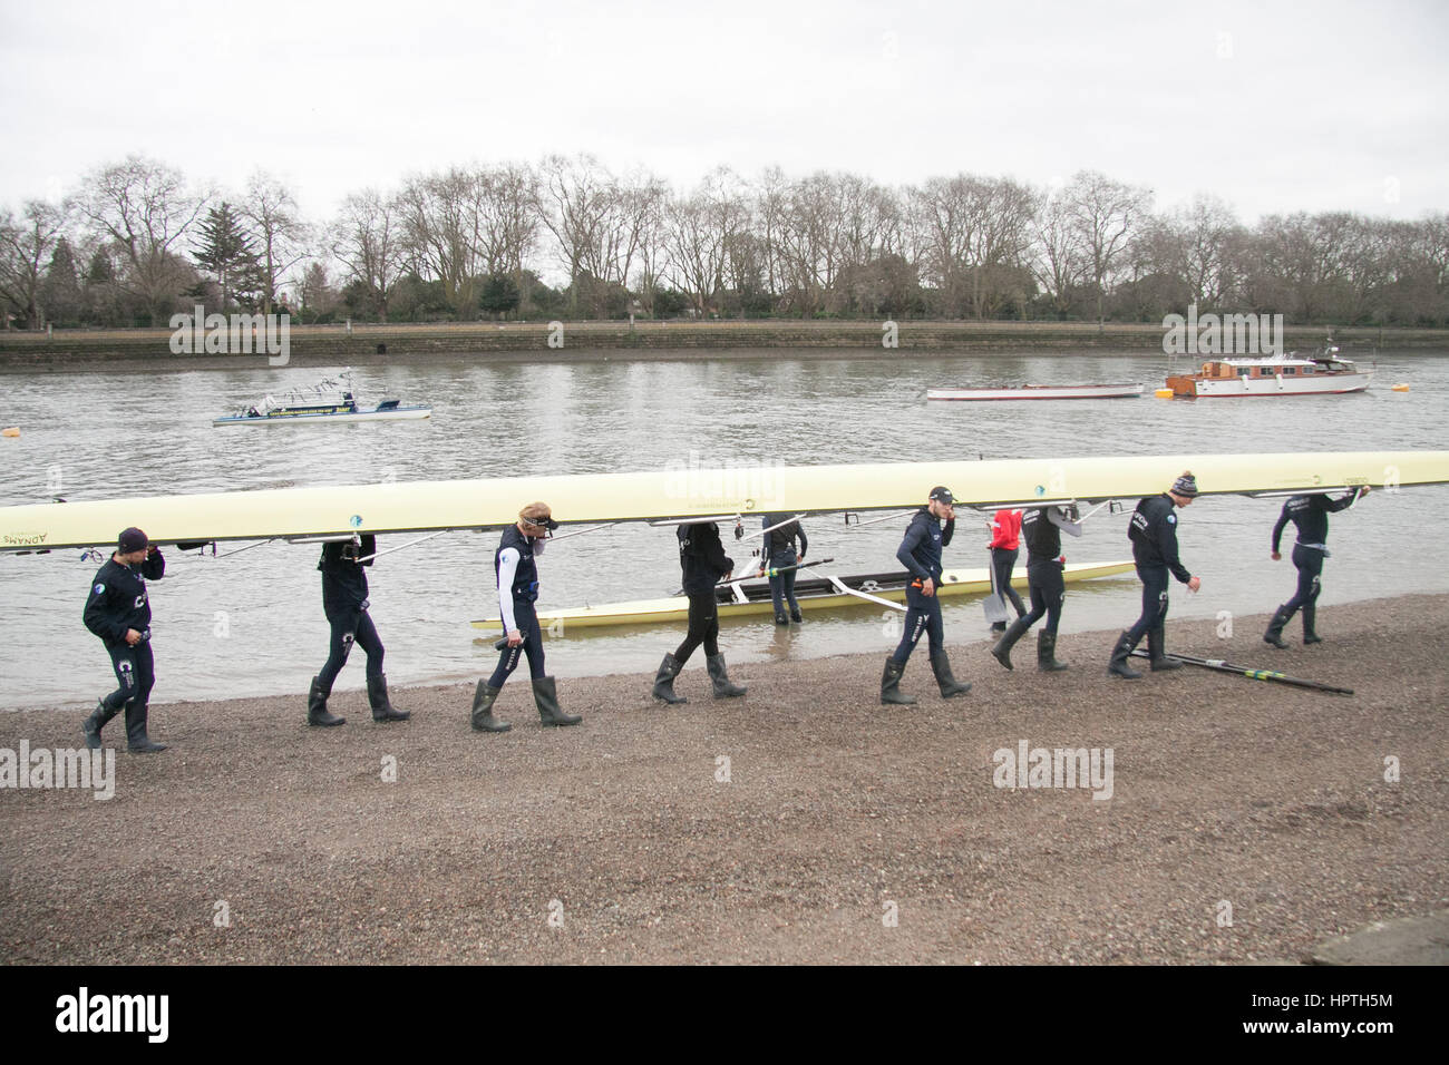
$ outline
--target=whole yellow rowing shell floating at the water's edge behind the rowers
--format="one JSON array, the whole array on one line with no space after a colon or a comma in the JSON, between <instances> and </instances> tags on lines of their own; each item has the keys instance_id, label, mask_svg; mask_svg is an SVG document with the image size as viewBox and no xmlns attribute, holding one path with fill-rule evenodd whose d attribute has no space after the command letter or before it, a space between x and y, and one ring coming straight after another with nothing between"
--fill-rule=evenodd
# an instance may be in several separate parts
<instances>
[{"instance_id":1,"label":"whole yellow rowing shell floating at the water's edge behind the rowers","mask_svg":"<svg viewBox=\"0 0 1449 1065\"><path fill-rule=\"evenodd\" d=\"M1066 581L1087 581L1093 577L1113 577L1132 569L1132 562L1071 562L1066 565L1062 578ZM910 575L906 572L864 574L859 577L840 577L846 587L864 591L877 598L888 598L900 603L906 598L906 585ZM1026 587L1026 575L1011 581L1017 588ZM772 614L775 604L769 597L769 584L765 581L740 584L740 601L735 593L735 585L722 584L714 590L719 600L720 617L746 617L751 614ZM940 575L936 588L939 596L968 596L991 591L990 569L946 569ZM811 578L796 581L796 597L801 610L830 610L842 606L859 606L855 596L842 594L832 590L830 581ZM690 600L685 596L672 598L639 598L629 603L606 603L597 607L574 607L565 610L540 610L539 623L545 627L562 622L565 629L604 629L613 625L658 625L662 622L682 622L690 616ZM497 617L484 617L474 622L475 629L500 629Z\"/></svg>"}]
</instances>

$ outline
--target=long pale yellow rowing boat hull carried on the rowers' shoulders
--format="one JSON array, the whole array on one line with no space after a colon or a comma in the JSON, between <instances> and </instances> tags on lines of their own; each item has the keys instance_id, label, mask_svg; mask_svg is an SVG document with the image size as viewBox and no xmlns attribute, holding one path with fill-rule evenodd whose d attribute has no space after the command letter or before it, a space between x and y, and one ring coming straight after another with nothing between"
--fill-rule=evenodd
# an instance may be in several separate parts
<instances>
[{"instance_id":1,"label":"long pale yellow rowing boat hull carried on the rowers' shoulders","mask_svg":"<svg viewBox=\"0 0 1449 1065\"><path fill-rule=\"evenodd\" d=\"M962 506L1032 506L1152 496L1184 469L1204 496L1449 483L1449 451L1287 455L1123 455L839 467L677 462L630 474L568 474L354 487L270 488L94 503L0 507L0 551L113 543L139 526L156 543L335 533L500 529L532 500L562 523L635 522L765 511L830 513L922 506L945 484Z\"/></svg>"}]
</instances>

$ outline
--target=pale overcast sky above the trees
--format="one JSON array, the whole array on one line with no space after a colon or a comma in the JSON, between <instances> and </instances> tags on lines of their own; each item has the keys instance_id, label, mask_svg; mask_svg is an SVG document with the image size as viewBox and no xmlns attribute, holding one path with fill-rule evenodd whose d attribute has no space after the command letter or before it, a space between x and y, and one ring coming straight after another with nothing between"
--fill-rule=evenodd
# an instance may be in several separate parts
<instances>
[{"instance_id":1,"label":"pale overcast sky above the trees","mask_svg":"<svg viewBox=\"0 0 1449 1065\"><path fill-rule=\"evenodd\" d=\"M452 164L590 152L888 184L1082 168L1246 222L1449 210L1449 3L0 0L0 206L139 152L313 220Z\"/></svg>"}]
</instances>

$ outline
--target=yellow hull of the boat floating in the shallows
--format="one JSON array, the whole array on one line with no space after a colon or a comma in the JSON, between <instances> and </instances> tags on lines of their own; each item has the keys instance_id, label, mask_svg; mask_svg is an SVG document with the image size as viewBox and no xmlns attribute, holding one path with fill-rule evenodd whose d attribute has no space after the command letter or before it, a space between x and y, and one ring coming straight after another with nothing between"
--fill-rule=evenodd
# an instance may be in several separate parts
<instances>
[{"instance_id":1,"label":"yellow hull of the boat floating in the shallows","mask_svg":"<svg viewBox=\"0 0 1449 1065\"><path fill-rule=\"evenodd\" d=\"M1085 581L1093 577L1114 577L1132 571L1132 562L1069 562L1062 574L1066 581ZM990 569L946 569L940 580L940 596L968 596L991 591ZM1026 574L1019 572L1011 578L1016 588L1026 587ZM865 590L877 598L888 598L893 603L906 600L904 588L888 591ZM801 610L833 610L848 606L869 606L856 596L801 596ZM722 603L720 617L748 617L751 614L774 614L775 606L771 600L752 603ZM658 625L662 622L682 622L690 616L690 600L684 596L672 598L638 598L627 603L606 603L597 607L572 607L565 610L540 610L539 623L546 629L562 623L564 629L604 629L622 625ZM503 622L497 617L484 617L472 623L474 629L497 629L501 632Z\"/></svg>"}]
</instances>

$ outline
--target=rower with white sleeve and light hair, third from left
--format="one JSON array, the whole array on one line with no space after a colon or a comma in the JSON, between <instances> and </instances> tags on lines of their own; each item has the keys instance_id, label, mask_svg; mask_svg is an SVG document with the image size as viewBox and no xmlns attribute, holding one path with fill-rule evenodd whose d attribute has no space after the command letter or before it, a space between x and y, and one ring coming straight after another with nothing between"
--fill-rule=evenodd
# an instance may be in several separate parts
<instances>
[{"instance_id":1,"label":"rower with white sleeve and light hair, third from left","mask_svg":"<svg viewBox=\"0 0 1449 1065\"><path fill-rule=\"evenodd\" d=\"M493 572L498 584L498 616L503 619L506 646L498 667L487 681L478 681L472 694L472 730L507 732L513 726L493 716L493 701L503 682L519 664L519 655L529 656L533 678L533 703L539 720L546 726L578 724L582 717L565 714L558 706L558 685L543 674L543 629L533 604L539 597L539 571L533 561L542 555L551 530L558 529L554 511L546 503L529 503L519 511L519 520L503 530L498 549L493 552Z\"/></svg>"}]
</instances>

